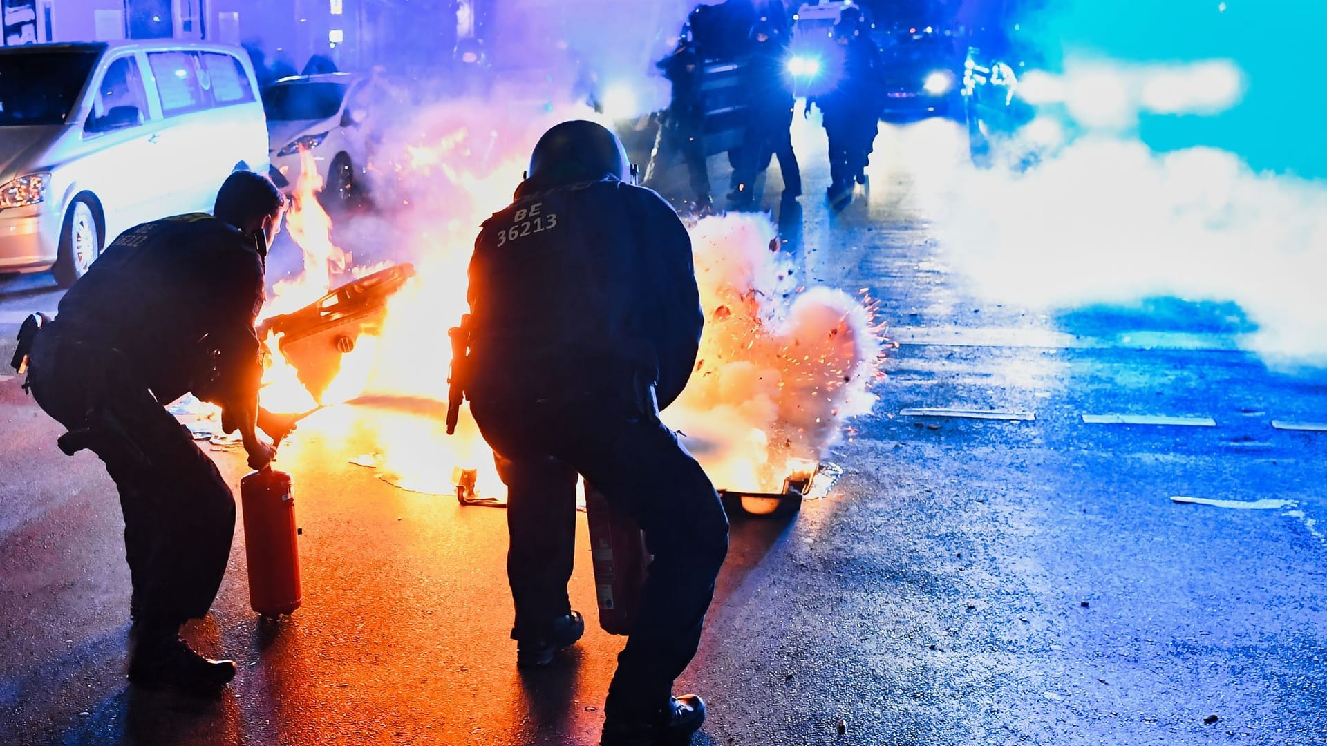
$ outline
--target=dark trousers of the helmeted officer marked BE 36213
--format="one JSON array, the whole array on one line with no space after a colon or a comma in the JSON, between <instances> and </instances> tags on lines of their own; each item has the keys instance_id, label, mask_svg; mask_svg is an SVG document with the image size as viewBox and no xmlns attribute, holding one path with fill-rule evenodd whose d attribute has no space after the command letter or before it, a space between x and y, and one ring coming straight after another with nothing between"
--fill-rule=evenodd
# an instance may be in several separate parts
<instances>
[{"instance_id":1,"label":"dark trousers of the helmeted officer marked BE 36213","mask_svg":"<svg viewBox=\"0 0 1327 746\"><path fill-rule=\"evenodd\" d=\"M677 435L610 401L471 402L471 411L508 486L512 637L539 638L571 608L577 474L645 531L654 559L605 706L610 717L637 717L666 706L673 680L695 656L729 522Z\"/></svg>"}]
</instances>

